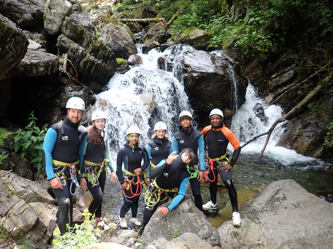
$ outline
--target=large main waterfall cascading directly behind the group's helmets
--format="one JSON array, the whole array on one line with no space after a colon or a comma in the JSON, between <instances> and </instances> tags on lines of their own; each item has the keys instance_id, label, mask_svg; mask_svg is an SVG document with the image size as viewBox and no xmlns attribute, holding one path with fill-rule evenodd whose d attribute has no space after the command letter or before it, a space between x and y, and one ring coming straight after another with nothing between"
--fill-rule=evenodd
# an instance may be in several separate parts
<instances>
[{"instance_id":1,"label":"large main waterfall cascading directly behind the group's helmets","mask_svg":"<svg viewBox=\"0 0 333 249\"><path fill-rule=\"evenodd\" d=\"M192 47L173 46L177 51L189 48ZM158 58L171 51L172 48L163 53L157 49L147 55L139 53L143 64L132 67L123 75L116 73L108 84L109 90L98 95L94 108L107 113L112 150L117 151L125 143L126 130L131 125L140 128L140 140L144 144L150 140L158 121L166 123L166 135L171 138L177 128L179 113L192 111L182 82L174 77L175 72L158 69Z\"/></svg>"}]
</instances>

